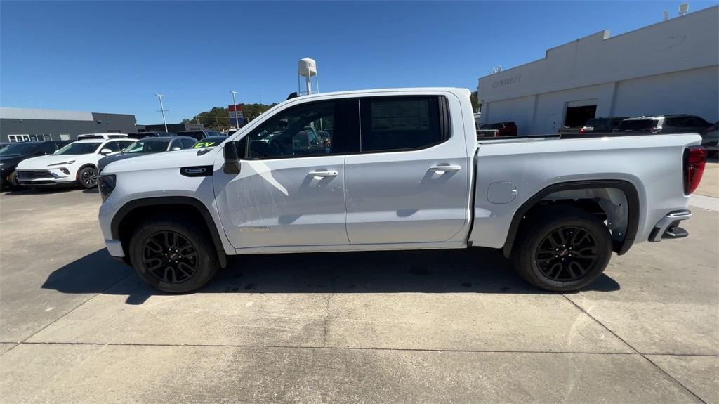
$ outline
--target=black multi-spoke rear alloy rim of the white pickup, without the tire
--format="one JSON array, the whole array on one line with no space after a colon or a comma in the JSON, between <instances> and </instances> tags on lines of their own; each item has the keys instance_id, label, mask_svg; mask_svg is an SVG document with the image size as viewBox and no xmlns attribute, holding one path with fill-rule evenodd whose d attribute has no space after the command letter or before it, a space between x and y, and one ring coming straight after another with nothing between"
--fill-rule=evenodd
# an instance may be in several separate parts
<instances>
[{"instance_id":1,"label":"black multi-spoke rear alloy rim of the white pickup, without the tire","mask_svg":"<svg viewBox=\"0 0 719 404\"><path fill-rule=\"evenodd\" d=\"M567 226L552 231L539 243L535 260L539 271L551 280L580 280L597 260L597 243L590 231Z\"/></svg>"}]
</instances>

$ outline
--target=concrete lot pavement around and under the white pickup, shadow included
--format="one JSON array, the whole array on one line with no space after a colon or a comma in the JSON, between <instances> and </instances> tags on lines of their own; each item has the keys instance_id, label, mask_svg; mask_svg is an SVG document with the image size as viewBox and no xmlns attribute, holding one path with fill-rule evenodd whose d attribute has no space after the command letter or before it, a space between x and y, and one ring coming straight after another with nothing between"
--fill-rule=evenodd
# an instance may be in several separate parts
<instances>
[{"instance_id":1,"label":"concrete lot pavement around and under the white pickup, shadow included","mask_svg":"<svg viewBox=\"0 0 719 404\"><path fill-rule=\"evenodd\" d=\"M470 249L243 257L165 295L109 258L96 192L2 193L0 401L719 403L719 200L697 201L689 238L580 293Z\"/></svg>"}]
</instances>

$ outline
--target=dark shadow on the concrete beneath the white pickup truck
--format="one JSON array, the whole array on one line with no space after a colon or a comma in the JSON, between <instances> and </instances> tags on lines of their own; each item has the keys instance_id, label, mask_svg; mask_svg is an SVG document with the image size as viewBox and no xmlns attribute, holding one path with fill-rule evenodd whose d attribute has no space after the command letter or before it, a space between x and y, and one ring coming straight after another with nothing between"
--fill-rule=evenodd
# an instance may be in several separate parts
<instances>
[{"instance_id":1,"label":"dark shadow on the concrete beneath the white pickup truck","mask_svg":"<svg viewBox=\"0 0 719 404\"><path fill-rule=\"evenodd\" d=\"M142 282L132 268L112 260L104 249L55 270L42 288L127 295L128 304L142 304L151 295L165 294ZM608 275L585 288L601 292L619 289ZM233 257L226 270L195 293L547 292L526 284L497 250L475 248Z\"/></svg>"}]
</instances>

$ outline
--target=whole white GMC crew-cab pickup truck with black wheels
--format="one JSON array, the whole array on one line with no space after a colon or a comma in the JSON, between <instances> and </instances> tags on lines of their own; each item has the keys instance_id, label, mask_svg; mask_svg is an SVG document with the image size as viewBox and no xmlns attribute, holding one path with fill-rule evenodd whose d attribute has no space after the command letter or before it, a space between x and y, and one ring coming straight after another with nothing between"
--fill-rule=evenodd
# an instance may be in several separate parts
<instances>
[{"instance_id":1,"label":"whole white GMC crew-cab pickup truck with black wheels","mask_svg":"<svg viewBox=\"0 0 719 404\"><path fill-rule=\"evenodd\" d=\"M301 96L217 147L112 162L99 219L113 257L160 290L228 255L502 249L545 290L578 290L612 252L686 237L697 134L477 141L470 91ZM479 265L478 265L479 266Z\"/></svg>"}]
</instances>

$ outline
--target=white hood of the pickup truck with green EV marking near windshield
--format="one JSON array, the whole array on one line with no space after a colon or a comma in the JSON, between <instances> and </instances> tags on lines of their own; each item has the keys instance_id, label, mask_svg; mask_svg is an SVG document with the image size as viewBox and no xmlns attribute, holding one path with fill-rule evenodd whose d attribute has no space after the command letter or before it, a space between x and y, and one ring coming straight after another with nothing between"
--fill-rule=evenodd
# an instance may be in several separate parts
<instances>
[{"instance_id":1,"label":"white hood of the pickup truck with green EV marking near windshield","mask_svg":"<svg viewBox=\"0 0 719 404\"><path fill-rule=\"evenodd\" d=\"M203 149L178 150L175 152L152 153L138 157L110 162L103 170L103 174L125 173L129 171L158 170L163 168L191 167L194 165L213 165L215 156L221 147L215 147L209 152L198 155Z\"/></svg>"}]
</instances>

